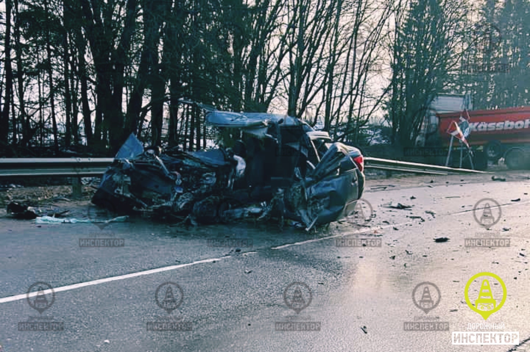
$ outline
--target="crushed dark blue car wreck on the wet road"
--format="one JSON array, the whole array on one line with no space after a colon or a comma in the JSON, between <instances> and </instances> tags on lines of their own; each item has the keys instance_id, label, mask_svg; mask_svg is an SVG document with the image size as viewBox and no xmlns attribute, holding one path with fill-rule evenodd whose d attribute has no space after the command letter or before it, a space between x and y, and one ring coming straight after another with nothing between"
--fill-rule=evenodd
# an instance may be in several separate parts
<instances>
[{"instance_id":1,"label":"crushed dark blue car wreck on the wet road","mask_svg":"<svg viewBox=\"0 0 530 352\"><path fill-rule=\"evenodd\" d=\"M357 148L289 116L214 110L206 122L219 146L205 151L144 149L131 134L92 202L199 223L287 218L306 230L355 211L365 182Z\"/></svg>"}]
</instances>

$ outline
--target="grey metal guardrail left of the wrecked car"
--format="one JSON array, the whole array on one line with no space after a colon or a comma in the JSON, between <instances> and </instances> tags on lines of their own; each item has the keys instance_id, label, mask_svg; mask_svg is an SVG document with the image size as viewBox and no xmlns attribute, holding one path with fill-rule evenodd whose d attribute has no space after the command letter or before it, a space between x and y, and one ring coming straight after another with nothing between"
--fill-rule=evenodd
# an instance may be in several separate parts
<instances>
[{"instance_id":1,"label":"grey metal guardrail left of the wrecked car","mask_svg":"<svg viewBox=\"0 0 530 352\"><path fill-rule=\"evenodd\" d=\"M113 158L11 158L0 159L0 177L102 175Z\"/></svg>"}]
</instances>

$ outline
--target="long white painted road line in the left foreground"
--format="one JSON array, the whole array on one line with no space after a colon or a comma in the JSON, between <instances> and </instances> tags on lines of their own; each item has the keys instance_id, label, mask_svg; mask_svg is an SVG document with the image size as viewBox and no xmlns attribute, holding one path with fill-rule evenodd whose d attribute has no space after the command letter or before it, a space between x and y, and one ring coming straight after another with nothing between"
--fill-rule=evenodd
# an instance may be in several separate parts
<instances>
[{"instance_id":1,"label":"long white painted road line in the left foreground","mask_svg":"<svg viewBox=\"0 0 530 352\"><path fill-rule=\"evenodd\" d=\"M220 260L223 260L223 259L226 259L226 258L229 258L229 257L230 256L226 256L226 257L222 257L222 258L211 258L211 259L204 259L204 260L201 260L201 261L196 261L196 262L191 262L191 263L186 263L186 264L163 266L163 267L158 267L156 269L149 269L149 270L139 271L139 272L136 272L136 273L105 277L104 279L80 282L80 283L76 283L76 284L73 284L73 285L67 285L67 286L60 286L58 288L54 288L53 290L54 290L54 292L70 291L70 290L80 289L80 288L86 287L86 286L99 285L99 284L106 283L106 282L130 279L131 277L138 277L138 276L144 276L144 275L149 275L149 274L162 273L164 271L175 270L175 269L178 269L178 268L181 268L181 267L191 266L191 265L195 265L195 264L211 263L211 262L220 261ZM33 291L33 292L31 292L29 294L29 297L35 297L37 295L37 293L38 293L38 291ZM51 290L44 290L44 293L45 294L51 293ZM17 294L17 295L10 296L10 297L0 298L0 303L19 301L19 300L26 299L26 297L27 297L26 293Z\"/></svg>"}]
</instances>

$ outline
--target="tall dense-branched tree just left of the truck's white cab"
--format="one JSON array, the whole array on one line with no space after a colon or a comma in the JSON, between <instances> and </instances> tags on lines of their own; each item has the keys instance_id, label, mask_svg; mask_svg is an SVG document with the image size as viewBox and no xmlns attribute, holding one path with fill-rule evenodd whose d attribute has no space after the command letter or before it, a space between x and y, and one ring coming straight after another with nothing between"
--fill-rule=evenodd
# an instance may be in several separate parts
<instances>
[{"instance_id":1,"label":"tall dense-branched tree just left of the truck's white cab","mask_svg":"<svg viewBox=\"0 0 530 352\"><path fill-rule=\"evenodd\" d=\"M400 20L402 3L398 3ZM393 141L412 145L428 106L454 79L460 62L466 7L455 0L412 1L403 22L396 22L393 43L392 97L388 115Z\"/></svg>"}]
</instances>

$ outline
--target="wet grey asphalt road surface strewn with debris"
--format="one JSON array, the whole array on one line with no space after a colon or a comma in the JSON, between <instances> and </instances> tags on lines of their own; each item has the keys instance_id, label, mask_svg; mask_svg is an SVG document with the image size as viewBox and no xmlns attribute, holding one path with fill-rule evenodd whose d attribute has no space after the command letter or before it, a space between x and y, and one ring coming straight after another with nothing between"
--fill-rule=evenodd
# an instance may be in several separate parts
<instances>
[{"instance_id":1,"label":"wet grey asphalt road surface strewn with debris","mask_svg":"<svg viewBox=\"0 0 530 352\"><path fill-rule=\"evenodd\" d=\"M273 220L187 229L131 219L100 229L1 218L0 351L530 351L530 342L452 345L451 332L468 323L504 322L502 330L518 331L520 341L530 337L530 180L471 179L417 178L386 188L368 181L363 198L374 217L366 226L342 221L310 233ZM482 198L500 204L490 230L473 217ZM509 238L510 247L464 246L464 238L481 236ZM80 238L91 237L122 238L124 246L81 248ZM449 240L436 243L439 237ZM211 242L226 238L241 243ZM381 240L381 247L338 247L338 239ZM487 321L464 298L466 282L479 272L498 275L507 288L506 302ZM412 300L425 281L440 290L428 314ZM25 297L35 282L56 290L42 314ZM171 313L155 300L164 282L183 293ZM283 297L293 282L312 293L298 313ZM30 317L53 317L64 331L18 331ZM426 317L448 322L449 331L404 331L404 322ZM148 322L167 319L187 322L191 331L147 331ZM276 331L275 322L285 321L320 323L320 331Z\"/></svg>"}]
</instances>

